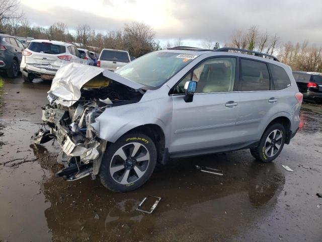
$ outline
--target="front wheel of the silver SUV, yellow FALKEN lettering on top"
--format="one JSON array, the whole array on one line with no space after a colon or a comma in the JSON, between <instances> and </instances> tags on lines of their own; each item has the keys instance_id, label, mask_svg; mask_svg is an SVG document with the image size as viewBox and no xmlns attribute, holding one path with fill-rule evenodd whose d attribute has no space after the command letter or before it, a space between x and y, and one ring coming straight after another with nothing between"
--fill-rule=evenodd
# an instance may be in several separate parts
<instances>
[{"instance_id":1,"label":"front wheel of the silver SUV, yellow FALKEN lettering on top","mask_svg":"<svg viewBox=\"0 0 322 242\"><path fill-rule=\"evenodd\" d=\"M132 157L131 155L134 153L134 144L140 148ZM119 153L120 150L123 151L126 159L121 159L121 156L116 154L116 152ZM142 159L143 156L147 157L147 154L149 155L149 160L147 162L146 160L136 160L140 158ZM134 165L134 167L132 166L132 164ZM99 176L103 186L108 188L109 190L114 192L129 192L141 187L144 183L146 183L148 178L153 173L155 164L156 148L152 139L144 134L133 132L125 134L115 143L107 145ZM118 171L110 170L110 167L113 168L122 165L124 165L124 168L121 168ZM139 176L138 173L134 170L134 168L137 169L138 166L143 169L142 171L140 168L140 171L144 172L141 176ZM127 170L129 170L129 173L127 179L124 181L123 178L126 176ZM113 173L113 175L111 173ZM123 184L121 184L122 181Z\"/></svg>"}]
</instances>

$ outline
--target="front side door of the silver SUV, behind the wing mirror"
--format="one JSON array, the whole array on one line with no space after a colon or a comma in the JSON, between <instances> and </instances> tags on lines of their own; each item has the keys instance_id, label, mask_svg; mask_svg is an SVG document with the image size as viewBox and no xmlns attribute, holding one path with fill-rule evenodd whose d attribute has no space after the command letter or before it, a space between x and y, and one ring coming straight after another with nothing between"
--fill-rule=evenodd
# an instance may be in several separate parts
<instances>
[{"instance_id":1,"label":"front side door of the silver SUV, behind the wing mirror","mask_svg":"<svg viewBox=\"0 0 322 242\"><path fill-rule=\"evenodd\" d=\"M229 149L239 101L233 91L236 63L235 57L206 59L175 86L169 146L173 157L181 152L202 154ZM197 81L197 90L193 101L185 102L183 86L189 80Z\"/></svg>"}]
</instances>

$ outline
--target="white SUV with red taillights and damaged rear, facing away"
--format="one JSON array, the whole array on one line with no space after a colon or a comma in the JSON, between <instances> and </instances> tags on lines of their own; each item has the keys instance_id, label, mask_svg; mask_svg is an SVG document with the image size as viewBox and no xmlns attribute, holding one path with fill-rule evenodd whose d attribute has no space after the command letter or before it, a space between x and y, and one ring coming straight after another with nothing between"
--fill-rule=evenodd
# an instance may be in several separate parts
<instances>
[{"instance_id":1,"label":"white SUV with red taillights and damaged rear, facing away","mask_svg":"<svg viewBox=\"0 0 322 242\"><path fill-rule=\"evenodd\" d=\"M67 63L82 63L77 48L70 44L53 40L32 40L22 53L20 71L25 82L34 78L52 80L57 70Z\"/></svg>"}]
</instances>

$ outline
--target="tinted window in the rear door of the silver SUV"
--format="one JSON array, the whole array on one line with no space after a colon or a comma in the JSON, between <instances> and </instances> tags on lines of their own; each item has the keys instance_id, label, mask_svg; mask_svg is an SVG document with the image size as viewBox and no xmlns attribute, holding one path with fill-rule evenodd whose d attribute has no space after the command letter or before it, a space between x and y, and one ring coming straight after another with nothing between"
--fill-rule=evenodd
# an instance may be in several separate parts
<instances>
[{"instance_id":1,"label":"tinted window in the rear door of the silver SUV","mask_svg":"<svg viewBox=\"0 0 322 242\"><path fill-rule=\"evenodd\" d=\"M270 90L270 75L265 63L240 59L240 91Z\"/></svg>"}]
</instances>

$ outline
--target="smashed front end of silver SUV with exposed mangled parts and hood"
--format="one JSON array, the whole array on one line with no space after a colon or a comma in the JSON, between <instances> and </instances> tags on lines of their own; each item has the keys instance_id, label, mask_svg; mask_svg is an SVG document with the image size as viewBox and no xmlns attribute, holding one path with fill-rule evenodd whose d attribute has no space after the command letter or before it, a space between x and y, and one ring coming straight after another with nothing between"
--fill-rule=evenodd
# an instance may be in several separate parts
<instances>
[{"instance_id":1,"label":"smashed front end of silver SUV with exposed mangled parts and hood","mask_svg":"<svg viewBox=\"0 0 322 242\"><path fill-rule=\"evenodd\" d=\"M99 137L100 123L96 118L106 108L138 102L143 92L113 80L114 73L81 64L69 65L60 69L57 79L53 80L47 97L49 104L42 108L42 120L48 129L40 129L34 142L57 140L61 148L57 162L65 166L56 173L58 177L76 180L91 175L95 178L107 145ZM84 72L87 76L82 75ZM59 79L61 76L64 78Z\"/></svg>"}]
</instances>

